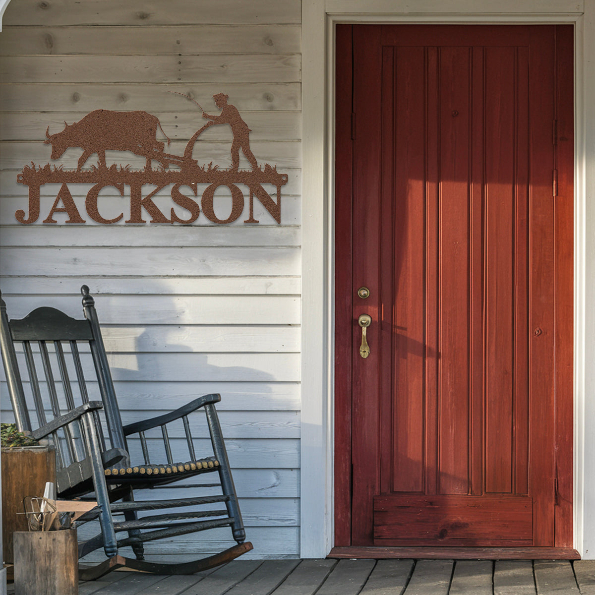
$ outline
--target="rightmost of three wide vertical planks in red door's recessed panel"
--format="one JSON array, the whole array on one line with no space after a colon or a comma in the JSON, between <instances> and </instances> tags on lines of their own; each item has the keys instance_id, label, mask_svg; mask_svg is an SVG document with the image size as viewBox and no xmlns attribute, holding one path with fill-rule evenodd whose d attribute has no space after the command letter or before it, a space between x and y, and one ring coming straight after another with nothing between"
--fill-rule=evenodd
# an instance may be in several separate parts
<instances>
[{"instance_id":1,"label":"rightmost of three wide vertical planks in red door's recessed panel","mask_svg":"<svg viewBox=\"0 0 595 595\"><path fill-rule=\"evenodd\" d=\"M486 492L512 492L515 48L486 48Z\"/></svg>"}]
</instances>

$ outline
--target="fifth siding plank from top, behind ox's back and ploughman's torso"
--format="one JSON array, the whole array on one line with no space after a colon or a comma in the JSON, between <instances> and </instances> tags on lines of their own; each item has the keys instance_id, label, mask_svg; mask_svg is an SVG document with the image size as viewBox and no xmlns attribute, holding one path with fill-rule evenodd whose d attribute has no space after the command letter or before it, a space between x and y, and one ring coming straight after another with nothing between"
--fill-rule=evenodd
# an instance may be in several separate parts
<instances>
[{"instance_id":1,"label":"fifth siding plank from top, behind ox's back and ploughman's torso","mask_svg":"<svg viewBox=\"0 0 595 595\"><path fill-rule=\"evenodd\" d=\"M212 105L210 97L207 96L205 100L205 103L209 102ZM183 101L188 100L180 98L180 104ZM209 109L206 105L204 107ZM104 108L102 107L102 109ZM129 109L119 111L129 111ZM217 113L217 108L213 107L212 111ZM5 112L0 118L0 140L36 140L43 142L46 139L45 131L48 126L50 133L59 132L64 129L64 121L68 124L78 122L86 113ZM196 130L206 123L206 120L202 120L198 108L193 112L161 112L153 108L151 114L159 119L164 133L171 140L183 140L186 143ZM244 111L242 112L242 119L251 129L250 142L255 140L299 140L302 136L301 117L298 111ZM209 137L211 140L223 142L233 140L231 129L228 126L212 127L209 130ZM163 139L161 131L159 131L159 138Z\"/></svg>"}]
</instances>

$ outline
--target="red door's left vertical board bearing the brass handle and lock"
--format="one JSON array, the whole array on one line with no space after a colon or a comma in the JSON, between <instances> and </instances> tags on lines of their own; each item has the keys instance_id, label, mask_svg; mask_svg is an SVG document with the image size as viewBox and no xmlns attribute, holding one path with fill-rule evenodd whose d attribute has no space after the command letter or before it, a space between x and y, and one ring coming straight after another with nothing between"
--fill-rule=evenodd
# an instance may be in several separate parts
<instances>
[{"instance_id":1,"label":"red door's left vertical board bearing the brass handle and lock","mask_svg":"<svg viewBox=\"0 0 595 595\"><path fill-rule=\"evenodd\" d=\"M372 545L372 498L378 493L380 463L380 402L375 396L380 370L380 331L384 321L380 304L380 233L381 229L381 65L380 29L373 25L353 30L356 60L353 65L353 102L356 111L353 161L353 246L358 258L353 264L353 290L366 286L370 296L359 302L353 297L352 308L352 415L353 443L362 447L353 450L352 539ZM359 314L369 314L372 324L367 331L370 355L359 355L362 329ZM355 540L354 540L355 541Z\"/></svg>"}]
</instances>

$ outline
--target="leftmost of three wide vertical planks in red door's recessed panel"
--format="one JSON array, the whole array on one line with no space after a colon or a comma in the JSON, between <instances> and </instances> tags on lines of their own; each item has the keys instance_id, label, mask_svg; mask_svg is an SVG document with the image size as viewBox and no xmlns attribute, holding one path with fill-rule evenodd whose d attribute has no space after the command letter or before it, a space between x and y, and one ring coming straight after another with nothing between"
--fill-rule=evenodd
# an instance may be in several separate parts
<instances>
[{"instance_id":1,"label":"leftmost of three wide vertical planks in red door's recessed panel","mask_svg":"<svg viewBox=\"0 0 595 595\"><path fill-rule=\"evenodd\" d=\"M392 51L392 48L391 48ZM394 114L398 114L390 186L394 204L393 387L386 391L393 412L393 486L391 491L424 488L425 359L425 56L424 48L395 48ZM388 128L388 122L384 123ZM391 128L392 130L392 128ZM388 153L388 151L383 151ZM384 179L384 176L383 176ZM383 267L386 270L386 267ZM389 295L390 295L389 293ZM383 442L383 444L390 444ZM387 490L388 491L388 490Z\"/></svg>"}]
</instances>

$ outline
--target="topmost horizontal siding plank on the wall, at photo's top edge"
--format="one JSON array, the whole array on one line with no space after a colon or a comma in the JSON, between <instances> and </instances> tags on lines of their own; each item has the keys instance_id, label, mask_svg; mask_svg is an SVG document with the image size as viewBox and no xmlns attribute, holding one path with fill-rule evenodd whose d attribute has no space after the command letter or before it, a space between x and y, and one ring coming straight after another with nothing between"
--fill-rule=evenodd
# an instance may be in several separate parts
<instances>
[{"instance_id":1,"label":"topmost horizontal siding plank on the wall, at photo's top edge","mask_svg":"<svg viewBox=\"0 0 595 595\"><path fill-rule=\"evenodd\" d=\"M11 25L167 25L167 24L248 24L299 23L299 0L271 2L253 0L235 2L219 0L216 4L201 4L193 0L177 0L176 10L160 0L146 0L142 6L117 0L85 0L79 4L70 0L39 2L25 0L10 4L4 13L4 26Z\"/></svg>"}]
</instances>

